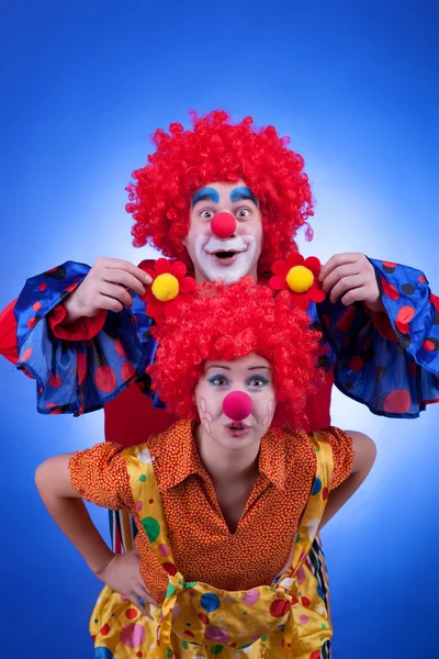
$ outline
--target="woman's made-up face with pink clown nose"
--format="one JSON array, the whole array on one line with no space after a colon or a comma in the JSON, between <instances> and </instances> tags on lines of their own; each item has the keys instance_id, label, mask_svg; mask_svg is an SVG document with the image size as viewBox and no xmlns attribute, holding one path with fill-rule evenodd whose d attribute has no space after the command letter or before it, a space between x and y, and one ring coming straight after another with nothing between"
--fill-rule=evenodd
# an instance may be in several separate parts
<instances>
[{"instance_id":1,"label":"woman's made-up face with pink clown nose","mask_svg":"<svg viewBox=\"0 0 439 659\"><path fill-rule=\"evenodd\" d=\"M240 396L248 403L235 405ZM234 395L230 395L234 394ZM204 375L195 388L200 417L200 439L230 451L255 447L268 431L275 410L275 393L270 364L250 354L234 361L206 361ZM232 404L224 401L228 398ZM232 418L236 410L237 418Z\"/></svg>"}]
</instances>

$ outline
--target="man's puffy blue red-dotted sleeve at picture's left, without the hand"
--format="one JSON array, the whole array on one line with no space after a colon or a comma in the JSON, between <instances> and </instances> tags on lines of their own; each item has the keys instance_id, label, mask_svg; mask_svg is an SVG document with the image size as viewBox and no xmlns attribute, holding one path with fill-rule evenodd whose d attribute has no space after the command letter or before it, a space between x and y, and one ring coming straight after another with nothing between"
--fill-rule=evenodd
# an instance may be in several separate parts
<instances>
[{"instance_id":1,"label":"man's puffy blue red-dotted sleeve at picture's left, without the hand","mask_svg":"<svg viewBox=\"0 0 439 659\"><path fill-rule=\"evenodd\" d=\"M43 414L99 410L137 379L143 379L144 391L150 394L145 369L154 359L156 343L145 303L136 294L130 310L102 314L87 338L81 328L68 333L68 338L55 330L56 309L89 270L89 266L67 261L37 275L26 281L14 306L16 366L36 380L37 410ZM154 401L160 405L157 396Z\"/></svg>"}]
</instances>

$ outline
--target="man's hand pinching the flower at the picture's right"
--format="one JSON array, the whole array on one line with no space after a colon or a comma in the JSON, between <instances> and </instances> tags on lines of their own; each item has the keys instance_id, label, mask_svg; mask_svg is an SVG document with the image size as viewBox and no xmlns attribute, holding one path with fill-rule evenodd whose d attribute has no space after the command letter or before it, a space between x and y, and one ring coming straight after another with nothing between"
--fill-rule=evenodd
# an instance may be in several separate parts
<instances>
[{"instance_id":1,"label":"man's hand pinching the flower at the picture's right","mask_svg":"<svg viewBox=\"0 0 439 659\"><path fill-rule=\"evenodd\" d=\"M363 302L371 311L384 311L375 270L364 254L336 254L323 266L319 280L331 302L341 297L345 306Z\"/></svg>"}]
</instances>

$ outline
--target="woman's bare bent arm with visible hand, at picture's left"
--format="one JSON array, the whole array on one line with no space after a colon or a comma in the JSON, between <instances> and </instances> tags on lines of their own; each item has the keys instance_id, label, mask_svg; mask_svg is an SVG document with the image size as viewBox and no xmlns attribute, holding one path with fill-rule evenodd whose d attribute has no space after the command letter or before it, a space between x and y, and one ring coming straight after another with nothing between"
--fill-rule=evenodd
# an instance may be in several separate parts
<instances>
[{"instance_id":1,"label":"woman's bare bent arm with visible hand, at picture's left","mask_svg":"<svg viewBox=\"0 0 439 659\"><path fill-rule=\"evenodd\" d=\"M37 468L35 484L44 505L93 574L151 618L139 602L143 599L157 605L140 577L139 558L136 551L115 555L104 543L80 494L71 487L69 461L72 457L74 454L55 456Z\"/></svg>"}]
</instances>

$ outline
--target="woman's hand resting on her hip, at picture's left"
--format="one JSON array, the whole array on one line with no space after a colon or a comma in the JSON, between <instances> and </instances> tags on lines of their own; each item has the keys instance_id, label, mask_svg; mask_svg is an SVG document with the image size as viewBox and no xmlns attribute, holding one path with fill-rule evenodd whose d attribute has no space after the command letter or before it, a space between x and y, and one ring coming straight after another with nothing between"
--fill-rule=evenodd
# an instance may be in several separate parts
<instances>
[{"instance_id":1,"label":"woman's hand resting on her hip, at picture's left","mask_svg":"<svg viewBox=\"0 0 439 659\"><path fill-rule=\"evenodd\" d=\"M153 619L150 613L145 608L142 601L149 602L153 606L158 606L145 588L140 576L139 558L137 551L127 551L126 554L114 554L113 558L101 570L94 571L94 574L110 585L114 591L124 595L142 611L149 619Z\"/></svg>"}]
</instances>

